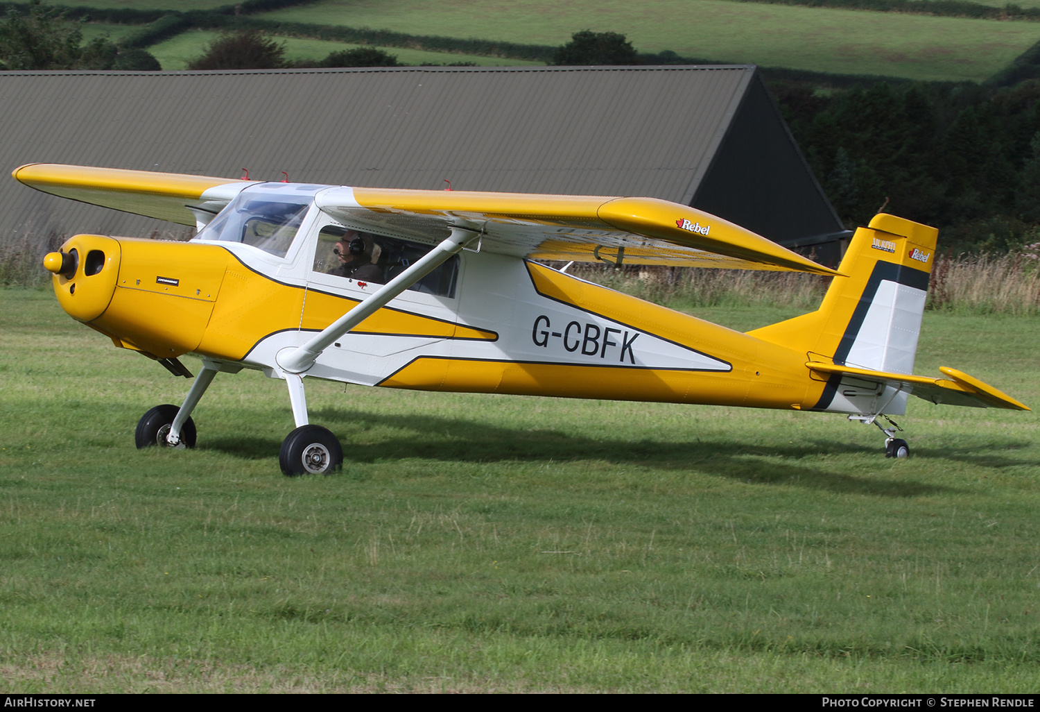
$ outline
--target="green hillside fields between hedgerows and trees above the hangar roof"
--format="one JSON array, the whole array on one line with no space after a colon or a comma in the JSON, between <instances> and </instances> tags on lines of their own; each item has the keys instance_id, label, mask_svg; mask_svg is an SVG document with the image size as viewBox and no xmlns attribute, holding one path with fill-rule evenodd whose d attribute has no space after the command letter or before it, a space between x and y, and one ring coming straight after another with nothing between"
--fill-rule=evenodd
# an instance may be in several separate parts
<instances>
[{"instance_id":1,"label":"green hillside fields between hedgerows and trees above the hangar roof","mask_svg":"<svg viewBox=\"0 0 1040 712\"><path fill-rule=\"evenodd\" d=\"M880 1L880 0L879 0ZM986 0L1003 5L998 0ZM56 0L48 4L59 5ZM70 3L71 4L71 3ZM175 12L228 8L219 0L83 0L99 8L99 18L120 9ZM1020 6L1040 6L1023 0ZM70 5L63 5L70 6ZM938 6L938 5L937 5ZM253 8L256 5L252 6ZM1040 22L979 20L906 12L832 9L803 5L731 2L728 0L657 0L633 5L622 0L317 0L270 11L230 10L193 17L196 31L161 37L154 54L167 70L186 67L202 54L207 32L222 26L260 26L289 40L292 59L345 47L298 41L320 37L329 28L372 28L407 35L470 39L555 47L580 29L624 33L641 52L671 50L680 56L710 61L757 63L836 74L870 74L917 80L983 81L1040 42ZM943 11L951 11L948 7ZM106 16L110 20L110 16ZM120 20L121 22L123 20ZM130 21L130 20L128 20ZM140 20L135 20L139 22ZM202 23L201 25L199 23ZM120 32L112 32L119 39ZM355 42L359 42L355 40ZM363 41L362 41L363 42ZM387 43L380 43L387 44ZM399 37L388 49L406 63L525 63L500 57L435 52L413 55L414 37ZM332 49L326 51L324 48ZM426 47L426 49L430 49Z\"/></svg>"}]
</instances>

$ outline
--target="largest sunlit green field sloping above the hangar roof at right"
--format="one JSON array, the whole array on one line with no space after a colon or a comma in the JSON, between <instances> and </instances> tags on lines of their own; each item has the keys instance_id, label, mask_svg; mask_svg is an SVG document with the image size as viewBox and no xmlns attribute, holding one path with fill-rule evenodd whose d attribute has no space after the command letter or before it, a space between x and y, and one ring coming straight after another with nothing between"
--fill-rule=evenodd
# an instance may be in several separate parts
<instances>
[{"instance_id":1,"label":"largest sunlit green field sloping above the hangar roof at right","mask_svg":"<svg viewBox=\"0 0 1040 712\"><path fill-rule=\"evenodd\" d=\"M643 51L914 79L981 80L1040 40L1040 23L719 0L324 0L262 17L544 45L583 28L613 30Z\"/></svg>"}]
</instances>

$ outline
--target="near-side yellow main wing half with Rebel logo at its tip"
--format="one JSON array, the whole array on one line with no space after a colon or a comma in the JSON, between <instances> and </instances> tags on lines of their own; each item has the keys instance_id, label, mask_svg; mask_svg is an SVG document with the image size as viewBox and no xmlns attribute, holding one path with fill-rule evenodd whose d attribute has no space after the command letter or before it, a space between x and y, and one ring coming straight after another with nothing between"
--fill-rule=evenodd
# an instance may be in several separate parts
<instances>
[{"instance_id":1,"label":"near-side yellow main wing half with Rebel logo at its tip","mask_svg":"<svg viewBox=\"0 0 1040 712\"><path fill-rule=\"evenodd\" d=\"M360 229L430 240L460 221L482 249L530 259L840 273L721 218L655 198L344 187L322 210Z\"/></svg>"}]
</instances>

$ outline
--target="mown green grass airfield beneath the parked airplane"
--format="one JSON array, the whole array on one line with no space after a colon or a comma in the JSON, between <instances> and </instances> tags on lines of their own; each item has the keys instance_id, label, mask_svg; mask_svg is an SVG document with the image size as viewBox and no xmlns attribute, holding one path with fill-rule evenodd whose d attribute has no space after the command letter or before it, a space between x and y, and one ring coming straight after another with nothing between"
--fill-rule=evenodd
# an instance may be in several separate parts
<instances>
[{"instance_id":1,"label":"mown green grass airfield beneath the parked airplane","mask_svg":"<svg viewBox=\"0 0 1040 712\"><path fill-rule=\"evenodd\" d=\"M702 310L746 329L790 307ZM1040 319L927 313L918 373L1040 402ZM1035 415L840 416L188 382L0 290L0 680L33 691L1003 691L1040 662ZM190 359L188 362L196 365Z\"/></svg>"}]
</instances>

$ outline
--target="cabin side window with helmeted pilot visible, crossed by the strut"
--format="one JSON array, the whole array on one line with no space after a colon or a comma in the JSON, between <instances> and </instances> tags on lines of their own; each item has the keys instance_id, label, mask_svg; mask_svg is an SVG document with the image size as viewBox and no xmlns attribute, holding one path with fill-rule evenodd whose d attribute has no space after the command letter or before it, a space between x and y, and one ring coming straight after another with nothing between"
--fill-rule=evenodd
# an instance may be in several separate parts
<instances>
[{"instance_id":1,"label":"cabin side window with helmeted pilot visible, crossed by the strut","mask_svg":"<svg viewBox=\"0 0 1040 712\"><path fill-rule=\"evenodd\" d=\"M420 243L327 225L318 233L314 272L356 282L386 284L433 248ZM454 297L459 256L454 255L409 289Z\"/></svg>"}]
</instances>

